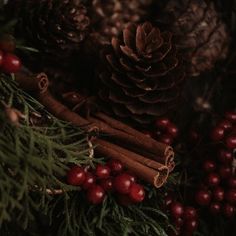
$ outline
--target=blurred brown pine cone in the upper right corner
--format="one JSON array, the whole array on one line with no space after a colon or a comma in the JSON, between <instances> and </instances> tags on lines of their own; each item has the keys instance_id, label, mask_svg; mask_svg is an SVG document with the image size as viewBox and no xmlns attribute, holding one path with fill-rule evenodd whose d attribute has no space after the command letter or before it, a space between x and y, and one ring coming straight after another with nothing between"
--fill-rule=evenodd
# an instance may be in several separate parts
<instances>
[{"instance_id":1,"label":"blurred brown pine cone in the upper right corner","mask_svg":"<svg viewBox=\"0 0 236 236\"><path fill-rule=\"evenodd\" d=\"M190 75L210 70L217 60L226 57L229 36L213 1L169 0L158 12L160 8L155 9L155 20L174 33Z\"/></svg>"}]
</instances>

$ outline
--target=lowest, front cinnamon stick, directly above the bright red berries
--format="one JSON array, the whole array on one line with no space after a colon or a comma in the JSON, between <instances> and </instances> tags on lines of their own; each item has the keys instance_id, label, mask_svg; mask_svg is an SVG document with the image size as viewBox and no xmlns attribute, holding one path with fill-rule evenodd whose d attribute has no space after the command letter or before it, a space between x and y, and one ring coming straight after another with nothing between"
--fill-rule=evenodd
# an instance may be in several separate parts
<instances>
[{"instance_id":1,"label":"lowest, front cinnamon stick, directly above the bright red berries","mask_svg":"<svg viewBox=\"0 0 236 236\"><path fill-rule=\"evenodd\" d=\"M157 162L154 164L154 161L103 140L97 139L96 144L98 146L95 152L121 161L135 175L156 188L160 188L167 181L169 170L166 166Z\"/></svg>"}]
</instances>

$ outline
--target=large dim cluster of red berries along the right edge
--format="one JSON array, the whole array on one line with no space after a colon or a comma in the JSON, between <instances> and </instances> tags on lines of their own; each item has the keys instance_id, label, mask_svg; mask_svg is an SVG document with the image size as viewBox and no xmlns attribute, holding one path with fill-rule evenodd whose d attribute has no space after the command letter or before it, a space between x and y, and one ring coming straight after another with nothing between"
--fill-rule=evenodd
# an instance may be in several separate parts
<instances>
[{"instance_id":1,"label":"large dim cluster of red berries along the right edge","mask_svg":"<svg viewBox=\"0 0 236 236\"><path fill-rule=\"evenodd\" d=\"M204 161L205 183L196 193L196 202L209 207L212 214L233 217L236 214L236 112L228 112L211 133L217 145L216 155Z\"/></svg>"}]
</instances>

